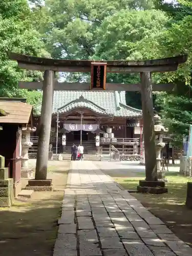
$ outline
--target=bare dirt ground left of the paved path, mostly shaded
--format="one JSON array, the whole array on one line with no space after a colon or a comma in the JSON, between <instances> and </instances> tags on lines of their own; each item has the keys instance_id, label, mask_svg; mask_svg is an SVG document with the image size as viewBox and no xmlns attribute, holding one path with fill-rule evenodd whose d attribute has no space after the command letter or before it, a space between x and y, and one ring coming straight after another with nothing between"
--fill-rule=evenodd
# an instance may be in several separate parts
<instances>
[{"instance_id":1,"label":"bare dirt ground left of the paved path, mostly shaded","mask_svg":"<svg viewBox=\"0 0 192 256\"><path fill-rule=\"evenodd\" d=\"M48 178L59 191L35 192L31 200L0 208L0 256L51 256L69 162L50 164ZM27 180L23 180L25 186Z\"/></svg>"}]
</instances>

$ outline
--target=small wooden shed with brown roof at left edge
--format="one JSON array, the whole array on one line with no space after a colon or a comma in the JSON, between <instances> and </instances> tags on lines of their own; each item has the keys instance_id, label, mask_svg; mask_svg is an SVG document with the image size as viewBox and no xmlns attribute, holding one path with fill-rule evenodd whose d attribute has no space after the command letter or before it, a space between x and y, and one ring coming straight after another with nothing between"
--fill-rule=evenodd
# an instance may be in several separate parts
<instances>
[{"instance_id":1,"label":"small wooden shed with brown roof at left edge","mask_svg":"<svg viewBox=\"0 0 192 256\"><path fill-rule=\"evenodd\" d=\"M14 182L14 196L17 196L22 188L22 127L32 125L32 105L22 98L0 98L0 109L8 113L0 117L0 155L5 157L5 167L9 168L9 178L13 178Z\"/></svg>"}]
</instances>

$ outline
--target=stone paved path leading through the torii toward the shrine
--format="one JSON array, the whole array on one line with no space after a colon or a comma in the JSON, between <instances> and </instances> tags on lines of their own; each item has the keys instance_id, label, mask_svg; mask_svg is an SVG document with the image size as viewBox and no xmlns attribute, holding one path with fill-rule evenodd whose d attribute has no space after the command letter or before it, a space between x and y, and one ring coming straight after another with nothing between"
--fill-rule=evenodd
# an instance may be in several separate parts
<instances>
[{"instance_id":1,"label":"stone paved path leading through the torii toward the shrine","mask_svg":"<svg viewBox=\"0 0 192 256\"><path fill-rule=\"evenodd\" d=\"M54 256L191 256L178 239L91 161L71 163Z\"/></svg>"}]
</instances>

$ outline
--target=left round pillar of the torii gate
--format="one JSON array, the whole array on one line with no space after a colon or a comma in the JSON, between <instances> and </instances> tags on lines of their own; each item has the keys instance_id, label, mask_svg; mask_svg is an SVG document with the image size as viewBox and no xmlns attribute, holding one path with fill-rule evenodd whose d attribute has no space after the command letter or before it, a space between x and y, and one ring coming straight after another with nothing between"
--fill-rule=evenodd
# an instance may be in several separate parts
<instances>
[{"instance_id":1,"label":"left round pillar of the torii gate","mask_svg":"<svg viewBox=\"0 0 192 256\"><path fill-rule=\"evenodd\" d=\"M42 106L39 125L39 139L37 148L37 161L35 180L47 179L47 165L49 154L49 140L51 132L52 102L54 90L54 71L46 70L44 73L44 86L42 88Z\"/></svg>"}]
</instances>

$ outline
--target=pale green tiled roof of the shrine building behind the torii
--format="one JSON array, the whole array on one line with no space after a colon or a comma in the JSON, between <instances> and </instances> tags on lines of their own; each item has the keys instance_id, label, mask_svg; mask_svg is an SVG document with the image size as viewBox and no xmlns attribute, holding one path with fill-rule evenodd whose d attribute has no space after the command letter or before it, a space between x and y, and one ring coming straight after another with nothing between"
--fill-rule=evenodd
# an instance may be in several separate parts
<instances>
[{"instance_id":1,"label":"pale green tiled roof of the shrine building behind the torii","mask_svg":"<svg viewBox=\"0 0 192 256\"><path fill-rule=\"evenodd\" d=\"M52 113L65 113L75 108L88 108L100 114L116 117L142 116L141 110L126 105L125 92L54 91Z\"/></svg>"}]
</instances>

